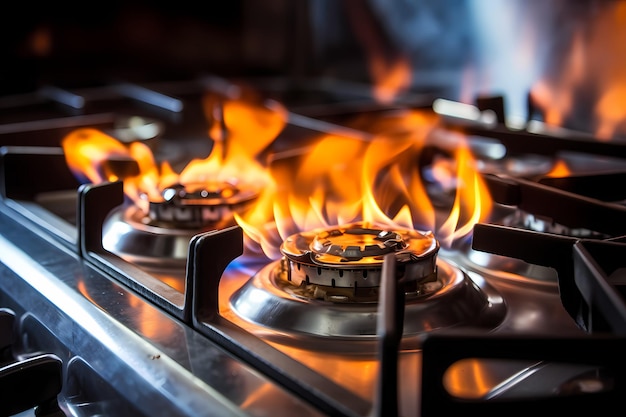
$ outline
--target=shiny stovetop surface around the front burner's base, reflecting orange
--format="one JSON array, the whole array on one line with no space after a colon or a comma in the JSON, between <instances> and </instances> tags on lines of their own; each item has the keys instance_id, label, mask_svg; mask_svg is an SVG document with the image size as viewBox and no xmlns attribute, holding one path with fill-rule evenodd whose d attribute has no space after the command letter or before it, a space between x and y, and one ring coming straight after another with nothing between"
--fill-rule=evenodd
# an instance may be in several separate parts
<instances>
[{"instance_id":1,"label":"shiny stovetop surface around the front burner's base, reflecting orange","mask_svg":"<svg viewBox=\"0 0 626 417\"><path fill-rule=\"evenodd\" d=\"M439 256L439 267L446 273L452 273L450 282L463 285L475 286L485 291L481 296L488 294L488 302L483 305L481 312L474 311L477 317L490 317L493 322L483 322L482 332L486 333L516 333L516 334L545 334L545 335L581 335L582 331L572 322L559 302L558 287L555 281L542 281L526 278L515 273L490 274L488 270L479 273L469 268L470 264L464 263L465 256L462 252L444 251ZM373 338L369 336L322 336L323 332L330 332L335 328L349 323L350 320L340 320L338 315L321 314L319 318L311 318L300 315L301 311L295 312L287 309L286 314L281 310L284 305L274 306L272 302L276 294L268 295L263 287L267 278L259 275L265 273L266 265L259 265L253 260L242 259L233 263L227 269L220 283L220 314L228 320L238 324L246 330L268 340L273 346L290 355L294 359L316 370L320 374L331 378L333 381L355 392L364 399L371 399L374 395L376 378L379 371L379 359ZM460 269L456 269L460 268ZM450 272L456 271L456 272ZM462 272L461 272L462 271ZM255 275L256 274L256 275ZM457 275L459 274L459 275ZM461 276L466 275L464 278ZM253 276L254 278L250 278ZM460 281L459 281L460 280ZM251 293L249 299L239 303L239 288L241 292ZM276 292L277 290L274 290ZM280 297L285 297L281 295ZM268 301L269 299L269 301ZM457 305L457 303L461 302ZM430 334L445 331L446 328L438 327L437 320L450 318L457 307L457 319L464 318L466 321L454 325L455 328L480 329L480 320L471 322L467 311L464 311L463 298L442 297L441 308L446 308L447 313L435 313L433 317L422 318L419 308L407 316L405 326L420 327ZM230 302L229 302L230 301ZM293 300L280 300L281 303L296 302ZM299 301L302 302L302 301ZM419 303L418 303L419 304ZM270 307L273 306L274 308ZM307 305L313 310L323 309L322 305L312 303ZM297 331L285 329L272 329L269 326L252 323L243 319L239 314L243 310L254 317L255 311L263 310L267 324L286 325L298 327ZM357 306L361 307L361 306ZM409 309L410 306L407 306ZM236 311L236 308L238 309ZM492 309L491 313L489 312ZM367 308L366 308L367 309ZM427 309L426 309L427 310ZM407 309L407 312L409 310ZM285 313L285 311L282 311ZM335 314L336 311L333 311ZM355 314L354 311L352 314ZM493 314L490 316L490 314ZM365 314L367 315L367 314ZM357 317L358 314L355 315ZM324 320L327 320L326 322ZM335 323L334 320L337 322ZM366 318L356 319L360 324L368 323ZM371 316L375 322L375 316ZM418 321L418 324L413 323ZM295 324L294 324L295 323ZM320 325L322 328L315 328ZM451 323L448 323L451 324ZM307 328L308 326L308 328ZM349 327L350 324L347 324ZM373 324L372 324L373 326ZM352 328L356 332L357 326ZM305 330L305 331L303 331ZM310 334L317 331L320 334ZM420 392L421 392L421 350L419 348L419 336L406 335L403 337L398 356L398 396L400 398L399 415L420 415ZM459 349L463 349L459 345ZM578 365L564 366L562 364L537 364L533 361L474 361L473 366L467 363L459 364L451 369L447 375L452 381L460 381L463 391L453 391L455 394L467 398L489 398L494 396L515 396L520 392L550 393L554 392L564 381L586 372L586 367Z\"/></svg>"}]
</instances>

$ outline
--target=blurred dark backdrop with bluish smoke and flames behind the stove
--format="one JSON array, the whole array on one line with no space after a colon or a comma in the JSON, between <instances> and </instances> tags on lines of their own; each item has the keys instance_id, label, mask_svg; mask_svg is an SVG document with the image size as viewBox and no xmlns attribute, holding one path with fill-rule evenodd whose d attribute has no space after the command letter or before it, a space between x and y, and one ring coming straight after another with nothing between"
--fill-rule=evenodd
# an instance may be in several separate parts
<instances>
[{"instance_id":1,"label":"blurred dark backdrop with bluish smoke and flames behind the stove","mask_svg":"<svg viewBox=\"0 0 626 417\"><path fill-rule=\"evenodd\" d=\"M626 118L626 2L107 1L15 5L0 94L112 80L329 77L471 102L506 97L601 136ZM384 99L384 94L380 95ZM602 113L604 120L599 120ZM608 119L608 120L606 120Z\"/></svg>"}]
</instances>

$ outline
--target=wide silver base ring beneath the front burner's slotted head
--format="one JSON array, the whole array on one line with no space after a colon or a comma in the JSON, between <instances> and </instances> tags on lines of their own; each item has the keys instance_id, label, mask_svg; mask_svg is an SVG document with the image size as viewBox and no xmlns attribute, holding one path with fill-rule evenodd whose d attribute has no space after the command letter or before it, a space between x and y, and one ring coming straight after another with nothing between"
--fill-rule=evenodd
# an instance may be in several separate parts
<instances>
[{"instance_id":1,"label":"wide silver base ring beneath the front burner's slotted head","mask_svg":"<svg viewBox=\"0 0 626 417\"><path fill-rule=\"evenodd\" d=\"M303 295L305 288L279 277L276 263L261 269L231 297L231 307L244 320L269 331L322 338L373 342L378 303L332 302ZM432 291L407 293L405 337L437 329L471 325L490 331L506 314L501 295L486 282L469 280L459 268L439 260ZM320 290L321 291L321 290ZM451 306L454 306L451 308ZM371 348L372 346L370 346Z\"/></svg>"}]
</instances>

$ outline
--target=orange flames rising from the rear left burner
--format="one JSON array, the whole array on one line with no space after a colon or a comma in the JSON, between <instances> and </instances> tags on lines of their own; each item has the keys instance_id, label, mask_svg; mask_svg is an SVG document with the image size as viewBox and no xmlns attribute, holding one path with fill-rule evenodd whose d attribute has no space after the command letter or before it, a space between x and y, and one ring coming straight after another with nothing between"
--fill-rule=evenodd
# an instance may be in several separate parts
<instances>
[{"instance_id":1,"label":"orange flames rising from the rear left burner","mask_svg":"<svg viewBox=\"0 0 626 417\"><path fill-rule=\"evenodd\" d=\"M205 95L204 109L212 121L209 135L214 139L205 159L194 159L180 173L168 161L157 163L152 150L144 143L126 146L102 131L83 128L68 134L62 141L70 169L92 183L120 178L112 168L112 158L135 161L138 174L123 177L124 192L146 213L150 201L162 201L161 192L174 184L197 185L249 182L262 187L270 181L267 170L257 161L262 152L282 131L287 111L276 102L257 103L245 100L219 100ZM220 106L220 115L216 115Z\"/></svg>"}]
</instances>

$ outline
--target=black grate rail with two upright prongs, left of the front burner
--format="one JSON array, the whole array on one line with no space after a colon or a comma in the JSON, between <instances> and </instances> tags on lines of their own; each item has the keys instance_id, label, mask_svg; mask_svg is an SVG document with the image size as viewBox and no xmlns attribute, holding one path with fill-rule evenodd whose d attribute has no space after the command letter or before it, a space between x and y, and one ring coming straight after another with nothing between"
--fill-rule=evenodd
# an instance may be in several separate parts
<instances>
[{"instance_id":1,"label":"black grate rail with two upright prongs, left of the front burner","mask_svg":"<svg viewBox=\"0 0 626 417\"><path fill-rule=\"evenodd\" d=\"M303 366L300 362L291 359L278 350L266 344L260 338L249 335L245 330L230 324L227 320L206 320L205 312L217 306L218 277L204 272L205 268L211 271L219 270L222 261L229 263L232 258L228 255L212 256L215 250L207 250L204 242L211 235L228 235L229 229L196 235L189 245L187 271L185 272L185 290L180 293L166 284L161 283L148 273L128 265L115 255L109 254L102 245L102 230L106 217L114 207L123 200L122 182L103 184L84 184L78 190L78 247L80 255L99 270L129 285L144 298L163 307L165 311L192 325L201 334L218 343L221 347L234 353L236 356L249 362L255 369L281 384L284 388L294 391L298 396L311 405L331 415L357 415L366 413L371 404L354 395L349 390L325 380L319 374ZM231 228L235 234L241 229ZM232 234L232 232L230 233ZM233 240L237 243L233 243ZM227 242L220 244L220 252L228 252L226 247L243 244L243 236L236 235L234 239L226 237ZM200 243L198 243L200 242ZM215 249L215 248L214 248ZM196 252L198 254L196 255ZM195 256L194 256L195 255ZM196 262L196 260L198 260ZM225 265L223 265L225 267ZM203 272L199 272L203 271ZM219 272L219 271L218 271ZM205 285L212 288L204 288ZM160 285L159 285L160 284ZM158 285L159 288L155 288ZM213 288L213 285L215 287ZM178 304L176 302L178 301ZM193 309L193 311L192 311ZM193 320L189 323L190 320ZM250 352L254 352L250 355ZM268 366L269 365L269 366ZM289 373L285 370L289 369ZM317 387L311 390L310 387Z\"/></svg>"}]
</instances>

